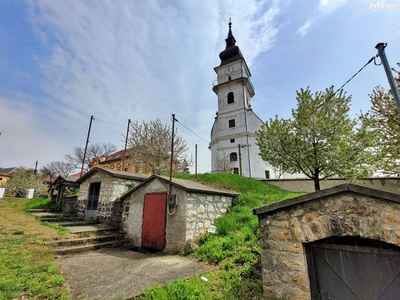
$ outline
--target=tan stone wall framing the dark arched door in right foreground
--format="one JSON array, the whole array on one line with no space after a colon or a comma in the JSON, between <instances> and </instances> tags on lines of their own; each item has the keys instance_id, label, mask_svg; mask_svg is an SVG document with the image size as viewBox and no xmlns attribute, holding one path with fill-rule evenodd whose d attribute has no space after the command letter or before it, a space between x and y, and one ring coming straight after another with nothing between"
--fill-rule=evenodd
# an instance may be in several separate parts
<instances>
[{"instance_id":1,"label":"tan stone wall framing the dark arched door in right foreground","mask_svg":"<svg viewBox=\"0 0 400 300\"><path fill-rule=\"evenodd\" d=\"M259 217L266 297L311 299L304 243L360 236L400 246L400 204L352 192Z\"/></svg>"}]
</instances>

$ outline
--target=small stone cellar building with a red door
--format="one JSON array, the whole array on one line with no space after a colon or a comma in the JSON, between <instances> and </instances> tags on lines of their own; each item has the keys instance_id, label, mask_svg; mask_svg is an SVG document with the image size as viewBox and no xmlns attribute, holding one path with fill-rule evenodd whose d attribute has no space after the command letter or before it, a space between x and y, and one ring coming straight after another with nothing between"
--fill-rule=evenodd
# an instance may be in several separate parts
<instances>
[{"instance_id":1,"label":"small stone cellar building with a red door","mask_svg":"<svg viewBox=\"0 0 400 300\"><path fill-rule=\"evenodd\" d=\"M153 175L121 197L123 230L135 247L179 252L209 230L237 195Z\"/></svg>"}]
</instances>

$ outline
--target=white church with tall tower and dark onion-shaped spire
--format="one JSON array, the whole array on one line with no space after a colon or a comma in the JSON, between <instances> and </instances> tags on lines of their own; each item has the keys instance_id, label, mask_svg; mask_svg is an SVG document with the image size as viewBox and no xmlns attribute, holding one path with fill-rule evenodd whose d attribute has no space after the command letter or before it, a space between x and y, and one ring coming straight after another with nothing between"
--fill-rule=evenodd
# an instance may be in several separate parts
<instances>
[{"instance_id":1,"label":"white church with tall tower and dark onion-shaped spire","mask_svg":"<svg viewBox=\"0 0 400 300\"><path fill-rule=\"evenodd\" d=\"M263 122L251 109L254 87L251 73L229 21L226 48L215 67L213 91L218 96L218 112L211 129L212 172L233 172L251 178L278 178L275 170L259 156L256 130Z\"/></svg>"}]
</instances>

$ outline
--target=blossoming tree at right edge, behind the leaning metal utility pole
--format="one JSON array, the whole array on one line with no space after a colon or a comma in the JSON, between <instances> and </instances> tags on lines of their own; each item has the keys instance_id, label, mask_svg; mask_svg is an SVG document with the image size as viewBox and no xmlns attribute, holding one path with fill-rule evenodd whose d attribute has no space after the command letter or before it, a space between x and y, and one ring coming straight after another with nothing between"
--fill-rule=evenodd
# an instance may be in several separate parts
<instances>
[{"instance_id":1,"label":"blossoming tree at right edge, behind the leaning metal utility pole","mask_svg":"<svg viewBox=\"0 0 400 300\"><path fill-rule=\"evenodd\" d=\"M400 63L397 63L400 67ZM400 88L400 74L395 78ZM400 173L400 113L391 91L377 86L369 95L371 109L361 115L364 126L377 135L375 168L384 174Z\"/></svg>"}]
</instances>

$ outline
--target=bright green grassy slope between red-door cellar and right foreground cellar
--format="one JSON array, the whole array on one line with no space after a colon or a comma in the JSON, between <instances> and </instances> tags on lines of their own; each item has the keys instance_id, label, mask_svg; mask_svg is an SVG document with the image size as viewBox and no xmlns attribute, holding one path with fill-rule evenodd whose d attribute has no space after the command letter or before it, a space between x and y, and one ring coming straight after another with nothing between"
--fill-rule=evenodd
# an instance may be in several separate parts
<instances>
[{"instance_id":1,"label":"bright green grassy slope between red-door cellar and right foreground cellar","mask_svg":"<svg viewBox=\"0 0 400 300\"><path fill-rule=\"evenodd\" d=\"M227 213L216 220L216 234L204 233L197 240L200 247L190 254L215 264L217 270L149 290L134 299L261 299L261 249L258 219L253 209L301 194L233 174L176 177L240 192Z\"/></svg>"}]
</instances>

